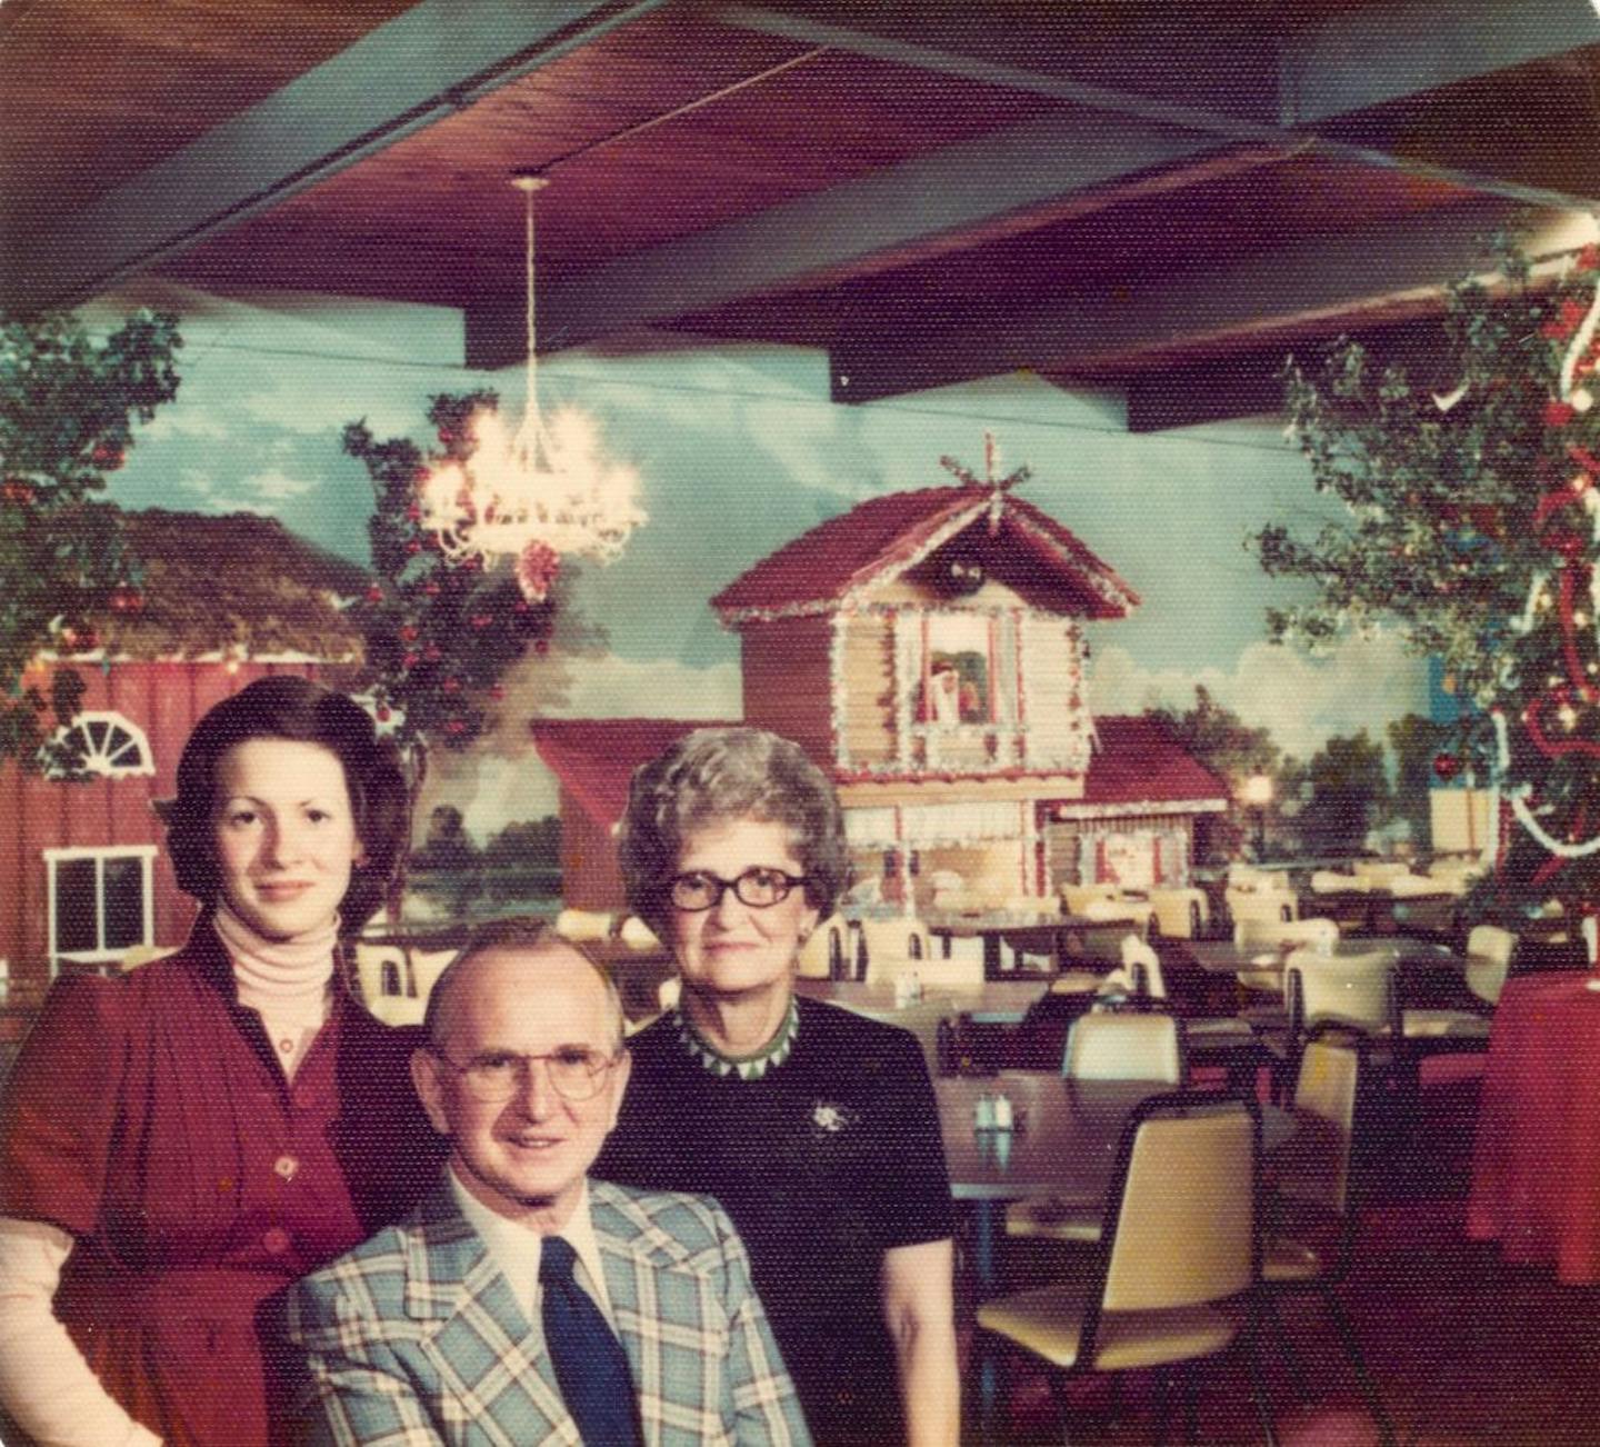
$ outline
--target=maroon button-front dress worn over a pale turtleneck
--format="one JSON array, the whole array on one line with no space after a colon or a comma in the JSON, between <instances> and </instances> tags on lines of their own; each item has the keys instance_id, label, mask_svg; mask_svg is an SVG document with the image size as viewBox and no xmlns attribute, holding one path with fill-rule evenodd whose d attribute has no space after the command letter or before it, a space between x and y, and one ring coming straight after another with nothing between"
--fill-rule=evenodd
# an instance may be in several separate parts
<instances>
[{"instance_id":1,"label":"maroon button-front dress worn over a pale turtleneck","mask_svg":"<svg viewBox=\"0 0 1600 1447\"><path fill-rule=\"evenodd\" d=\"M278 1293L437 1175L414 1040L336 989L290 1085L205 922L176 956L51 991L6 1082L0 1213L75 1237L56 1314L171 1447L274 1439L296 1369Z\"/></svg>"}]
</instances>

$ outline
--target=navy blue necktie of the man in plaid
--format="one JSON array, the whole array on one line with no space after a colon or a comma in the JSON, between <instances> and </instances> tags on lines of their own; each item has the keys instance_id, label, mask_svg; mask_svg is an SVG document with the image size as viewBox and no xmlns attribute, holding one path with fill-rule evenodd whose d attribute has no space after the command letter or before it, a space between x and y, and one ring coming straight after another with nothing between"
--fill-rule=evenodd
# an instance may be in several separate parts
<instances>
[{"instance_id":1,"label":"navy blue necktie of the man in plaid","mask_svg":"<svg viewBox=\"0 0 1600 1447\"><path fill-rule=\"evenodd\" d=\"M573 1277L576 1253L560 1236L539 1247L544 1345L584 1447L638 1447L634 1378L616 1332Z\"/></svg>"}]
</instances>

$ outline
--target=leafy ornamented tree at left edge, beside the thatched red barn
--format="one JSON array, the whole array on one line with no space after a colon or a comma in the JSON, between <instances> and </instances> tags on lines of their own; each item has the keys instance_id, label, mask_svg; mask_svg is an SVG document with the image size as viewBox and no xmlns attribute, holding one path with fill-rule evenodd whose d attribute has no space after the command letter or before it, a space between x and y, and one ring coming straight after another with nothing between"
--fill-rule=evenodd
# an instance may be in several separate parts
<instances>
[{"instance_id":1,"label":"leafy ornamented tree at left edge, beside the thatched red barn","mask_svg":"<svg viewBox=\"0 0 1600 1447\"><path fill-rule=\"evenodd\" d=\"M70 768L51 743L77 712L72 669L24 687L40 651L99 647L96 619L144 607L142 571L106 477L178 392L178 319L136 312L104 341L80 320L0 319L0 759Z\"/></svg>"}]
</instances>

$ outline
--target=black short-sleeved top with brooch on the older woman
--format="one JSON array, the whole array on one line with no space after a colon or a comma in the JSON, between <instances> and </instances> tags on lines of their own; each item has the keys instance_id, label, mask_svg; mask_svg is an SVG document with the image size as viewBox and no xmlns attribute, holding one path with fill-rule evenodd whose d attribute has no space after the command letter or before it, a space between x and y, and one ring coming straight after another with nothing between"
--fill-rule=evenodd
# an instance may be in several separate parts
<instances>
[{"instance_id":1,"label":"black short-sleeved top with brooch on the older woman","mask_svg":"<svg viewBox=\"0 0 1600 1447\"><path fill-rule=\"evenodd\" d=\"M819 1444L893 1441L883 1253L952 1231L933 1084L902 1029L800 999L789 1056L715 1076L667 1015L629 1040L622 1114L594 1175L715 1196Z\"/></svg>"}]
</instances>

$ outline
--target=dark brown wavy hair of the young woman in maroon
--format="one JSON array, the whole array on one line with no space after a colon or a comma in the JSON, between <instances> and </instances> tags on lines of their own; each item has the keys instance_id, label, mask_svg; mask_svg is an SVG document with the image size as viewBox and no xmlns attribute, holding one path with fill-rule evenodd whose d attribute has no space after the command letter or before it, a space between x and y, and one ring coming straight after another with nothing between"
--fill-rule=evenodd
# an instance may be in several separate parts
<instances>
[{"instance_id":1,"label":"dark brown wavy hair of the young woman in maroon","mask_svg":"<svg viewBox=\"0 0 1600 1447\"><path fill-rule=\"evenodd\" d=\"M195 725L178 760L178 797L165 802L166 852L178 887L203 906L216 903L216 772L222 756L253 738L320 744L344 768L355 836L365 860L339 901L344 933L358 930L382 903L405 844L405 775L394 748L378 738L360 704L298 674L258 679L222 699Z\"/></svg>"}]
</instances>

